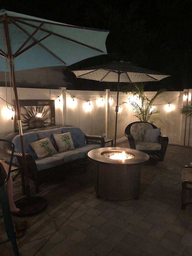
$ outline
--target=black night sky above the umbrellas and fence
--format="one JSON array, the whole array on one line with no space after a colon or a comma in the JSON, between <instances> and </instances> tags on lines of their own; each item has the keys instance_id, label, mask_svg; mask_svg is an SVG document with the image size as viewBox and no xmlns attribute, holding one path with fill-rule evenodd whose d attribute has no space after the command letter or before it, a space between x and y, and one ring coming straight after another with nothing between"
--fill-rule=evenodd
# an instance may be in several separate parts
<instances>
[{"instance_id":1,"label":"black night sky above the umbrellas and fence","mask_svg":"<svg viewBox=\"0 0 192 256\"><path fill-rule=\"evenodd\" d=\"M109 30L106 41L108 55L76 63L69 67L71 70L112 60L130 61L171 75L160 82L148 83L146 90L192 88L190 0L0 0L0 8L62 23ZM75 85L80 83L79 79L76 80L73 80Z\"/></svg>"}]
</instances>

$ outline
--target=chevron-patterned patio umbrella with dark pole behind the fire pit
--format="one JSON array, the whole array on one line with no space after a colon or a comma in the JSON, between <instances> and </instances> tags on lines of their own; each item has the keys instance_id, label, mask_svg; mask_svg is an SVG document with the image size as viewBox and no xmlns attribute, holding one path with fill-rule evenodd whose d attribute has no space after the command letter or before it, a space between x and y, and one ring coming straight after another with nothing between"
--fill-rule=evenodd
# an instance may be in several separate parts
<instances>
[{"instance_id":1,"label":"chevron-patterned patio umbrella with dark pole behind the fire pit","mask_svg":"<svg viewBox=\"0 0 192 256\"><path fill-rule=\"evenodd\" d=\"M117 133L117 113L119 98L119 83L137 83L160 81L170 75L165 75L154 70L141 68L132 65L130 62L113 61L108 64L99 65L91 68L72 71L77 78L97 80L100 82L118 82L117 86L117 105L116 105L116 127L115 127L115 146Z\"/></svg>"}]
</instances>

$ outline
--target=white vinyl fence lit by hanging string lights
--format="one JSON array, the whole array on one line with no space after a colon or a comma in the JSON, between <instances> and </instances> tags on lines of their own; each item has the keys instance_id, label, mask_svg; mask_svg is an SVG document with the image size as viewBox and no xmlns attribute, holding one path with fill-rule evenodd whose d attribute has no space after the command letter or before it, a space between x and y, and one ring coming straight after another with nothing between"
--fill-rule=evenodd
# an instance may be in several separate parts
<instances>
[{"instance_id":1,"label":"white vinyl fence lit by hanging string lights","mask_svg":"<svg viewBox=\"0 0 192 256\"><path fill-rule=\"evenodd\" d=\"M18 88L19 100L54 100L55 125L74 125L91 135L102 135L114 139L116 122L117 92L80 91L60 89ZM187 100L183 99L187 92ZM192 146L192 126L190 118L179 113L179 108L191 101L192 89L184 92L165 92L156 99L154 105L160 110L162 122L155 125L161 127L161 133L169 137L170 144ZM148 98L156 92L145 92ZM59 96L59 97L58 97ZM60 101L59 101L60 100ZM136 96L119 92L119 113L117 120L117 142L125 140L125 128L131 122L139 121L134 117L131 101L139 101ZM8 102L8 103L7 103ZM126 103L124 103L126 102ZM14 132L14 113L9 110L13 103L13 92L10 88L0 87L0 138ZM0 144L0 158L6 157Z\"/></svg>"}]
</instances>

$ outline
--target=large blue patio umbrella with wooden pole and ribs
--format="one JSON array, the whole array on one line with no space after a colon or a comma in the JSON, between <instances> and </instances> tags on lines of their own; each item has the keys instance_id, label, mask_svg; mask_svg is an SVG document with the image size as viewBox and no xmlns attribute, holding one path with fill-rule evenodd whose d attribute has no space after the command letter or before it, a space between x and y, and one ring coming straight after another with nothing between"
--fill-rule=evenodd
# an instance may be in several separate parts
<instances>
[{"instance_id":1,"label":"large blue patio umbrella with wooden pole and ribs","mask_svg":"<svg viewBox=\"0 0 192 256\"><path fill-rule=\"evenodd\" d=\"M10 72L12 77L23 155L26 198L31 199L31 204L33 202L30 197L14 71L59 65L69 66L83 59L107 54L105 41L108 34L109 31L105 30L73 26L0 10L0 71ZM34 204L37 204L37 198L35 197ZM39 212L40 209L37 211ZM20 211L21 214L22 211Z\"/></svg>"}]
</instances>

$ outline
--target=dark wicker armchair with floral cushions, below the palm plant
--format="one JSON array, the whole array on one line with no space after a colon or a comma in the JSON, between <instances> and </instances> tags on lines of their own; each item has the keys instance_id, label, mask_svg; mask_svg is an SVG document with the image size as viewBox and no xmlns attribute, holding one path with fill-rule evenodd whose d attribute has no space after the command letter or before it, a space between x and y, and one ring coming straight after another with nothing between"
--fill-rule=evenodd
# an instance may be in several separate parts
<instances>
[{"instance_id":1,"label":"dark wicker armchair with floral cushions, below the palm plant","mask_svg":"<svg viewBox=\"0 0 192 256\"><path fill-rule=\"evenodd\" d=\"M146 129L158 129L148 122L133 122L125 128L125 136L128 138L131 149L140 150L149 155L150 161L164 161L169 139L160 133L157 141L145 141Z\"/></svg>"}]
</instances>

